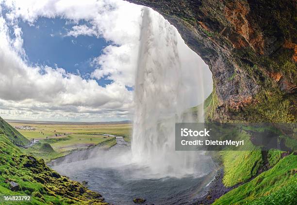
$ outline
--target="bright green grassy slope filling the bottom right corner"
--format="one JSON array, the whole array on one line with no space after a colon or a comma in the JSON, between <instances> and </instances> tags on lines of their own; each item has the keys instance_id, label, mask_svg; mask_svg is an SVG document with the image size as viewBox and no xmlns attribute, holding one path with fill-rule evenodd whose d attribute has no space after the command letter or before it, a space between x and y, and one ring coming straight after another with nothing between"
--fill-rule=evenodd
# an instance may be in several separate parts
<instances>
[{"instance_id":1,"label":"bright green grassy slope filling the bottom right corner","mask_svg":"<svg viewBox=\"0 0 297 205\"><path fill-rule=\"evenodd\" d=\"M268 200L281 202L276 204L293 205L296 200L296 197L294 197L296 196L296 192L293 191L296 190L297 184L296 172L297 155L291 154L290 156L282 158L270 170L259 174L253 180L229 191L217 199L214 205L239 205L244 203L257 205L271 204ZM281 189L282 187L285 188ZM284 191L287 189L289 192L285 193ZM285 195L285 197L283 197L283 195Z\"/></svg>"}]
</instances>

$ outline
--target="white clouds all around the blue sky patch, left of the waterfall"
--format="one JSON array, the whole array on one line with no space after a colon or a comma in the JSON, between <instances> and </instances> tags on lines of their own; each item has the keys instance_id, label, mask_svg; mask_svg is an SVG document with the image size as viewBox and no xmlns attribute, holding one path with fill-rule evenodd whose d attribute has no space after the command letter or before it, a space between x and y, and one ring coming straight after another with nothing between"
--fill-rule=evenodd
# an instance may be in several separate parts
<instances>
[{"instance_id":1,"label":"white clouds all around the blue sky patch, left of the waterfall","mask_svg":"<svg viewBox=\"0 0 297 205\"><path fill-rule=\"evenodd\" d=\"M22 115L22 117L30 116L29 118L46 117L48 119L68 119L69 116L72 119L86 119L86 116L92 116L93 121L96 119L120 120L129 117L128 114L132 106L132 92L128 91L125 86L131 85L133 79L130 78L130 82L126 83L126 76L129 72L116 70L116 64L114 64L115 71L106 71L106 69L112 69L112 65L106 63L112 61L112 56L114 56L111 54L110 49L106 48L104 55L106 60L104 60L103 56L98 57L100 60L94 59L98 69L105 69L104 73L109 73L110 78L113 79L115 74L113 83L102 87L99 86L95 79L83 79L80 75L67 73L63 68L40 65L30 66L30 63L26 61L25 52L22 48L22 31L17 26L18 19L33 24L40 16L60 16L74 21L81 19L92 21L92 27L75 25L68 32L68 35L75 37L78 35L98 36L99 33L105 35L105 31L110 32L106 27L108 23L101 26L96 23L95 19L101 22L97 16L99 13L108 16L109 10L106 10L106 8L109 4L113 4L113 6L110 5L109 7L111 8L110 12L114 13L118 6L116 1L87 1L81 3L81 1L56 0L48 2L26 1L25 3L24 1L8 0L2 3L10 12L6 14L6 19L4 16L0 17L0 114L12 117L18 115ZM90 13L91 10L93 12ZM105 20L111 22L117 19ZM116 27L116 23L114 26ZM9 30L11 29L14 30L14 38L9 36ZM105 37L111 41L111 38ZM113 44L119 43L113 41ZM115 48L127 47L124 42L121 43L123 44L115 46ZM123 50L123 52L126 51ZM114 58L117 63L121 61L132 63L129 60L129 55L115 53ZM121 55L126 55L126 57L120 57ZM99 65L101 62L102 66ZM124 73L123 76L119 77L122 72ZM100 79L98 76L93 76Z\"/></svg>"}]
</instances>

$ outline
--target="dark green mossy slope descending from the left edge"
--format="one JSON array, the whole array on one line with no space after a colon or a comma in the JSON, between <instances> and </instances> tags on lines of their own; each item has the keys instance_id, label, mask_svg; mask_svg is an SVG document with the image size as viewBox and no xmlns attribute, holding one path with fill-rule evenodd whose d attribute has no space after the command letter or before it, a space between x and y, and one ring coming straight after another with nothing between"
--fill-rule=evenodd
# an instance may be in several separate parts
<instances>
[{"instance_id":1,"label":"dark green mossy slope descending from the left edge","mask_svg":"<svg viewBox=\"0 0 297 205\"><path fill-rule=\"evenodd\" d=\"M31 195L30 202L19 204L94 204L107 203L99 193L88 190L79 182L69 180L50 169L43 159L25 155L22 148L16 146L11 138L12 131L16 133L19 142L25 145L25 138L9 126L3 119L0 120L0 204L3 204L3 195ZM17 191L10 189L9 182L19 185ZM5 202L5 204L9 204Z\"/></svg>"}]
</instances>

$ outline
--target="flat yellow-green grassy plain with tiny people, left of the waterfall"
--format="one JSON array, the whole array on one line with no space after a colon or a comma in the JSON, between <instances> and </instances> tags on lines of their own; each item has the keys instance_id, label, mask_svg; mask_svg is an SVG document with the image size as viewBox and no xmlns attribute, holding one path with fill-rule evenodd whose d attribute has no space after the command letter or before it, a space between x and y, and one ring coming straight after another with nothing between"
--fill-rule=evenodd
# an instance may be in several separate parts
<instances>
[{"instance_id":1,"label":"flat yellow-green grassy plain with tiny people, left of the waterfall","mask_svg":"<svg viewBox=\"0 0 297 205\"><path fill-rule=\"evenodd\" d=\"M11 126L31 126L35 130L18 129L27 139L34 138L37 143L25 152L46 162L65 156L75 150L87 149L95 145L111 147L115 145L115 137L123 136L130 142L131 124L29 124L9 123ZM57 137L55 136L57 134Z\"/></svg>"}]
</instances>

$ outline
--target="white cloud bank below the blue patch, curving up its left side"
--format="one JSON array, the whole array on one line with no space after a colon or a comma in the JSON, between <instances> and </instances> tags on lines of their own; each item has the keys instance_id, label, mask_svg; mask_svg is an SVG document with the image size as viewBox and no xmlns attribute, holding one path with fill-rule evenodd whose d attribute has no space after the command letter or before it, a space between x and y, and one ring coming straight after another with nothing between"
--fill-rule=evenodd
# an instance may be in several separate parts
<instances>
[{"instance_id":1,"label":"white cloud bank below the blue patch, curving up its left side","mask_svg":"<svg viewBox=\"0 0 297 205\"><path fill-rule=\"evenodd\" d=\"M24 19L27 18L33 23L32 19L36 17L30 10L26 11L30 15L23 16ZM16 16L13 14L8 16L11 20L8 23L16 22ZM125 84L114 81L106 87L101 87L94 79L83 79L81 76L67 73L62 68L28 65L22 60L25 53L22 48L21 29L14 24L15 38L11 39L8 23L0 17L0 113L2 115L43 119L68 119L69 116L86 119L86 116L92 116L93 119L88 119L91 121L129 117L132 92L126 89ZM52 114L53 111L55 114Z\"/></svg>"}]
</instances>

